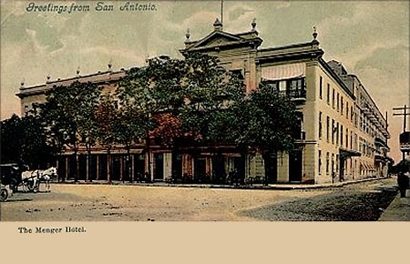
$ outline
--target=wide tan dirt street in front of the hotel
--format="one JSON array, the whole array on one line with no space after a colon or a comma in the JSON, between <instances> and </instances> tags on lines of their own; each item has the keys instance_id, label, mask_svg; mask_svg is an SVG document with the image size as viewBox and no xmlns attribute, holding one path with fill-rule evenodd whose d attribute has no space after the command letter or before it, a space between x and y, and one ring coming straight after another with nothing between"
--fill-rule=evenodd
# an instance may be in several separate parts
<instances>
[{"instance_id":1,"label":"wide tan dirt street in front of the hotel","mask_svg":"<svg viewBox=\"0 0 410 264\"><path fill-rule=\"evenodd\" d=\"M239 190L137 185L53 184L15 193L1 221L377 220L394 180L317 190ZM353 209L352 209L353 208ZM360 212L360 213L358 213ZM359 217L362 215L362 217ZM363 217L365 215L365 217Z\"/></svg>"}]
</instances>

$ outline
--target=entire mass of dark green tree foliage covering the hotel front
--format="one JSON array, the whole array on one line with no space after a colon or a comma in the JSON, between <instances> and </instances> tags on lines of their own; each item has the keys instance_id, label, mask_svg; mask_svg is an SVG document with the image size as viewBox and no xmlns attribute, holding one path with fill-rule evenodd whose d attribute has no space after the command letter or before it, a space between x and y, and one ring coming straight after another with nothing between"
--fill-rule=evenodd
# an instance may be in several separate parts
<instances>
[{"instance_id":1,"label":"entire mass of dark green tree foliage covering the hotel front","mask_svg":"<svg viewBox=\"0 0 410 264\"><path fill-rule=\"evenodd\" d=\"M239 75L221 67L215 57L198 53L184 60L150 59L145 67L127 71L113 94L102 95L97 84L76 81L52 89L46 101L39 115L26 123L18 117L2 122L2 143L14 134L19 137L13 143L27 153L35 152L32 146L71 149L77 168L80 145L89 154L97 143L108 154L114 145L122 145L130 155L133 145L145 142L149 151L151 139L156 139L173 151L184 144L230 145L241 153L252 149L266 157L292 150L299 129L291 100L265 83L245 94ZM39 142L29 142L26 135L37 135ZM3 150L10 160L23 159L10 146L3 145L2 154Z\"/></svg>"}]
</instances>

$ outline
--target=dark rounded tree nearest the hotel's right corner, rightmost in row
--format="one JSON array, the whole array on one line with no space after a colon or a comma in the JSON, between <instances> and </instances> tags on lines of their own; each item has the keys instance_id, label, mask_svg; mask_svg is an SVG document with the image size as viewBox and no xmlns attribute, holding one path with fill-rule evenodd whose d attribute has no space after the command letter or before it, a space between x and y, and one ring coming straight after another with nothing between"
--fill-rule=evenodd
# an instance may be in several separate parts
<instances>
[{"instance_id":1,"label":"dark rounded tree nearest the hotel's right corner, rightmost in row","mask_svg":"<svg viewBox=\"0 0 410 264\"><path fill-rule=\"evenodd\" d=\"M249 146L262 154L265 182L272 156L278 151L292 151L300 137L300 119L290 98L275 92L266 83L250 93L235 107L238 129L236 144Z\"/></svg>"}]
</instances>

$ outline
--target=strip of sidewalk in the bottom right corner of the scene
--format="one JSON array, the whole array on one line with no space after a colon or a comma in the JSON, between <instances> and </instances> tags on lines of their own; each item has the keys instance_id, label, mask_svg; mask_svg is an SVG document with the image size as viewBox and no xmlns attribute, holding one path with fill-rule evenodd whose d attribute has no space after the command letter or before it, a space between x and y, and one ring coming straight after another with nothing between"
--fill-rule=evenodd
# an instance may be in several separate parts
<instances>
[{"instance_id":1,"label":"strip of sidewalk in the bottom right corner of the scene","mask_svg":"<svg viewBox=\"0 0 410 264\"><path fill-rule=\"evenodd\" d=\"M397 194L379 221L410 221L410 190L407 190L404 198L400 198L400 193Z\"/></svg>"}]
</instances>

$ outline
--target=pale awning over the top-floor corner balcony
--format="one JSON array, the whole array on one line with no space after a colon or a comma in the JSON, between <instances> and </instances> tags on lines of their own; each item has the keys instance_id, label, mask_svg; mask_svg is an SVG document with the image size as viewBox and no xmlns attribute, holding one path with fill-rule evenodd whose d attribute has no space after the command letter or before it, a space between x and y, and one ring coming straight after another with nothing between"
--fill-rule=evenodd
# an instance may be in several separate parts
<instances>
[{"instance_id":1,"label":"pale awning over the top-floor corner balcony","mask_svg":"<svg viewBox=\"0 0 410 264\"><path fill-rule=\"evenodd\" d=\"M302 78L306 76L306 65L305 63L292 63L262 67L261 75L262 79L269 81Z\"/></svg>"}]
</instances>

